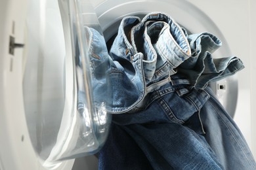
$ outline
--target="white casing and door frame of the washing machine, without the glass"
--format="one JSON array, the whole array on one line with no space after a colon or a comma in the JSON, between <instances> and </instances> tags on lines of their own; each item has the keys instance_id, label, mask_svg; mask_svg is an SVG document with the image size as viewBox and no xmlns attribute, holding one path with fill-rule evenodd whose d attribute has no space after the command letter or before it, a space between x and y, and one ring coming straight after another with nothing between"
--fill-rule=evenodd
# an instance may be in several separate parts
<instances>
[{"instance_id":1,"label":"white casing and door frame of the washing machine, without the glass","mask_svg":"<svg viewBox=\"0 0 256 170\"><path fill-rule=\"evenodd\" d=\"M29 3L30 0L0 1L0 170L46 169L33 150L24 112L22 73L26 47L15 48L14 54L9 52L10 36L15 37L16 43L26 42L25 23ZM192 33L207 31L217 35L223 47L216 52L216 56L238 56L245 65L245 69L234 76L238 82L234 120L256 158L256 1L94 0L91 3L106 40L116 33L123 16L142 15L150 11L167 12ZM222 83L232 88L232 84ZM228 90L218 91L217 95L220 99L221 95L224 96L224 103L228 99L236 101L231 99L233 95ZM96 162L95 156L89 156L63 161L54 169L97 169Z\"/></svg>"}]
</instances>

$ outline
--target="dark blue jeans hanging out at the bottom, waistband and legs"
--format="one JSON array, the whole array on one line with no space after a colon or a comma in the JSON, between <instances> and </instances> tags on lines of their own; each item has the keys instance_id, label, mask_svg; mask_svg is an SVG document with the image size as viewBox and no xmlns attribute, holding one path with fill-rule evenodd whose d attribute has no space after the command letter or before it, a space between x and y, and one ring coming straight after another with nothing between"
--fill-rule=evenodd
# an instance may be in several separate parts
<instances>
[{"instance_id":1,"label":"dark blue jeans hanging out at the bottom, waistband and legs","mask_svg":"<svg viewBox=\"0 0 256 170\"><path fill-rule=\"evenodd\" d=\"M130 169L255 169L242 133L211 88L196 90L176 78L150 93L141 112L113 115L99 169L125 169L127 161Z\"/></svg>"}]
</instances>

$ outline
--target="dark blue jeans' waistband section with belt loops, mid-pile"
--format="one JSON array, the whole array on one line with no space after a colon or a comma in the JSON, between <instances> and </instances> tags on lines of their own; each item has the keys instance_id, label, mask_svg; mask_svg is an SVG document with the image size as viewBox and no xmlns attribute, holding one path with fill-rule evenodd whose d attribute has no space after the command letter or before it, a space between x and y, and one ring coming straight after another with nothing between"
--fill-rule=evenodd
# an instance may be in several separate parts
<instances>
[{"instance_id":1,"label":"dark blue jeans' waistband section with belt loops, mid-pile","mask_svg":"<svg viewBox=\"0 0 256 170\"><path fill-rule=\"evenodd\" d=\"M138 114L115 116L115 119L118 119L116 123L121 125L144 124L150 121L165 123L168 120L183 124L209 99L209 95L203 90L191 89L186 77L173 75L170 79L169 83L146 95L144 105L140 108L136 107ZM155 114L156 112L163 113Z\"/></svg>"}]
</instances>

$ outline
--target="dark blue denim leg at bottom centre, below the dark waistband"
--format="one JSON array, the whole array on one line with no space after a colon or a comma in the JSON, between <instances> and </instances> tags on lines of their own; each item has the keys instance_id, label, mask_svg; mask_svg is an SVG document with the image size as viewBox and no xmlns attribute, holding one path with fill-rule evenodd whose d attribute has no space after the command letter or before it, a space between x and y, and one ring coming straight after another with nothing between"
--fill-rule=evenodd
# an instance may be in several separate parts
<instances>
[{"instance_id":1,"label":"dark blue denim leg at bottom centre, below the dark waistband","mask_svg":"<svg viewBox=\"0 0 256 170\"><path fill-rule=\"evenodd\" d=\"M99 152L100 170L223 169L205 139L181 124L112 127L119 130L112 131Z\"/></svg>"}]
</instances>

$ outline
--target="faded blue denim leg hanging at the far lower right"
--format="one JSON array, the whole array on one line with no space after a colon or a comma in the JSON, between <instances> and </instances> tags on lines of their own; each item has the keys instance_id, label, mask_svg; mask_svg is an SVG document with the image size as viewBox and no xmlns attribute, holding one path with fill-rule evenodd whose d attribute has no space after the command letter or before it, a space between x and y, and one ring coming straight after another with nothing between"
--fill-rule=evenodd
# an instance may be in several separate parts
<instances>
[{"instance_id":1,"label":"faded blue denim leg hanging at the far lower right","mask_svg":"<svg viewBox=\"0 0 256 170\"><path fill-rule=\"evenodd\" d=\"M256 169L253 155L240 129L207 87L211 96L200 110L205 139L221 161L224 169Z\"/></svg>"}]
</instances>

